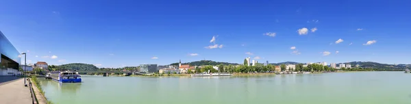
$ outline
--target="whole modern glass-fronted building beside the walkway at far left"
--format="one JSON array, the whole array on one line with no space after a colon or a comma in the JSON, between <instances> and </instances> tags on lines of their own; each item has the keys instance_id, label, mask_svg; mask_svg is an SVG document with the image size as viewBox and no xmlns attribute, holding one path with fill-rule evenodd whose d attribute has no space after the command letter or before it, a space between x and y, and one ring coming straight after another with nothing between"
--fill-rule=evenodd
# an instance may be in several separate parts
<instances>
[{"instance_id":1,"label":"whole modern glass-fronted building beside the walkway at far left","mask_svg":"<svg viewBox=\"0 0 411 104\"><path fill-rule=\"evenodd\" d=\"M18 75L18 68L21 65L21 55L13 44L5 38L0 31L0 76Z\"/></svg>"}]
</instances>

